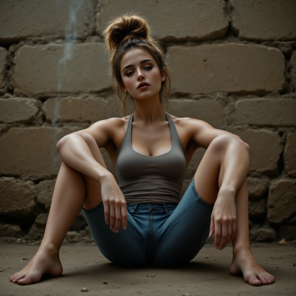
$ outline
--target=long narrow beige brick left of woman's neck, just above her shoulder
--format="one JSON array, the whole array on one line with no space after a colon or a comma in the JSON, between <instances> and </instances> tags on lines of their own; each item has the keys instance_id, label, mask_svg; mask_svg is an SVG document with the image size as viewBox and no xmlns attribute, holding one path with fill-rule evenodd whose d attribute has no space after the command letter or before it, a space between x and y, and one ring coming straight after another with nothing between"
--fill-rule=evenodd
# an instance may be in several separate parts
<instances>
[{"instance_id":1,"label":"long narrow beige brick left of woman's neck, just above her shoulder","mask_svg":"<svg viewBox=\"0 0 296 296\"><path fill-rule=\"evenodd\" d=\"M57 108L55 108L57 106ZM54 113L55 110L56 114ZM47 119L61 121L96 122L111 117L121 117L119 99L93 98L50 98L43 104L43 112Z\"/></svg>"}]
</instances>

